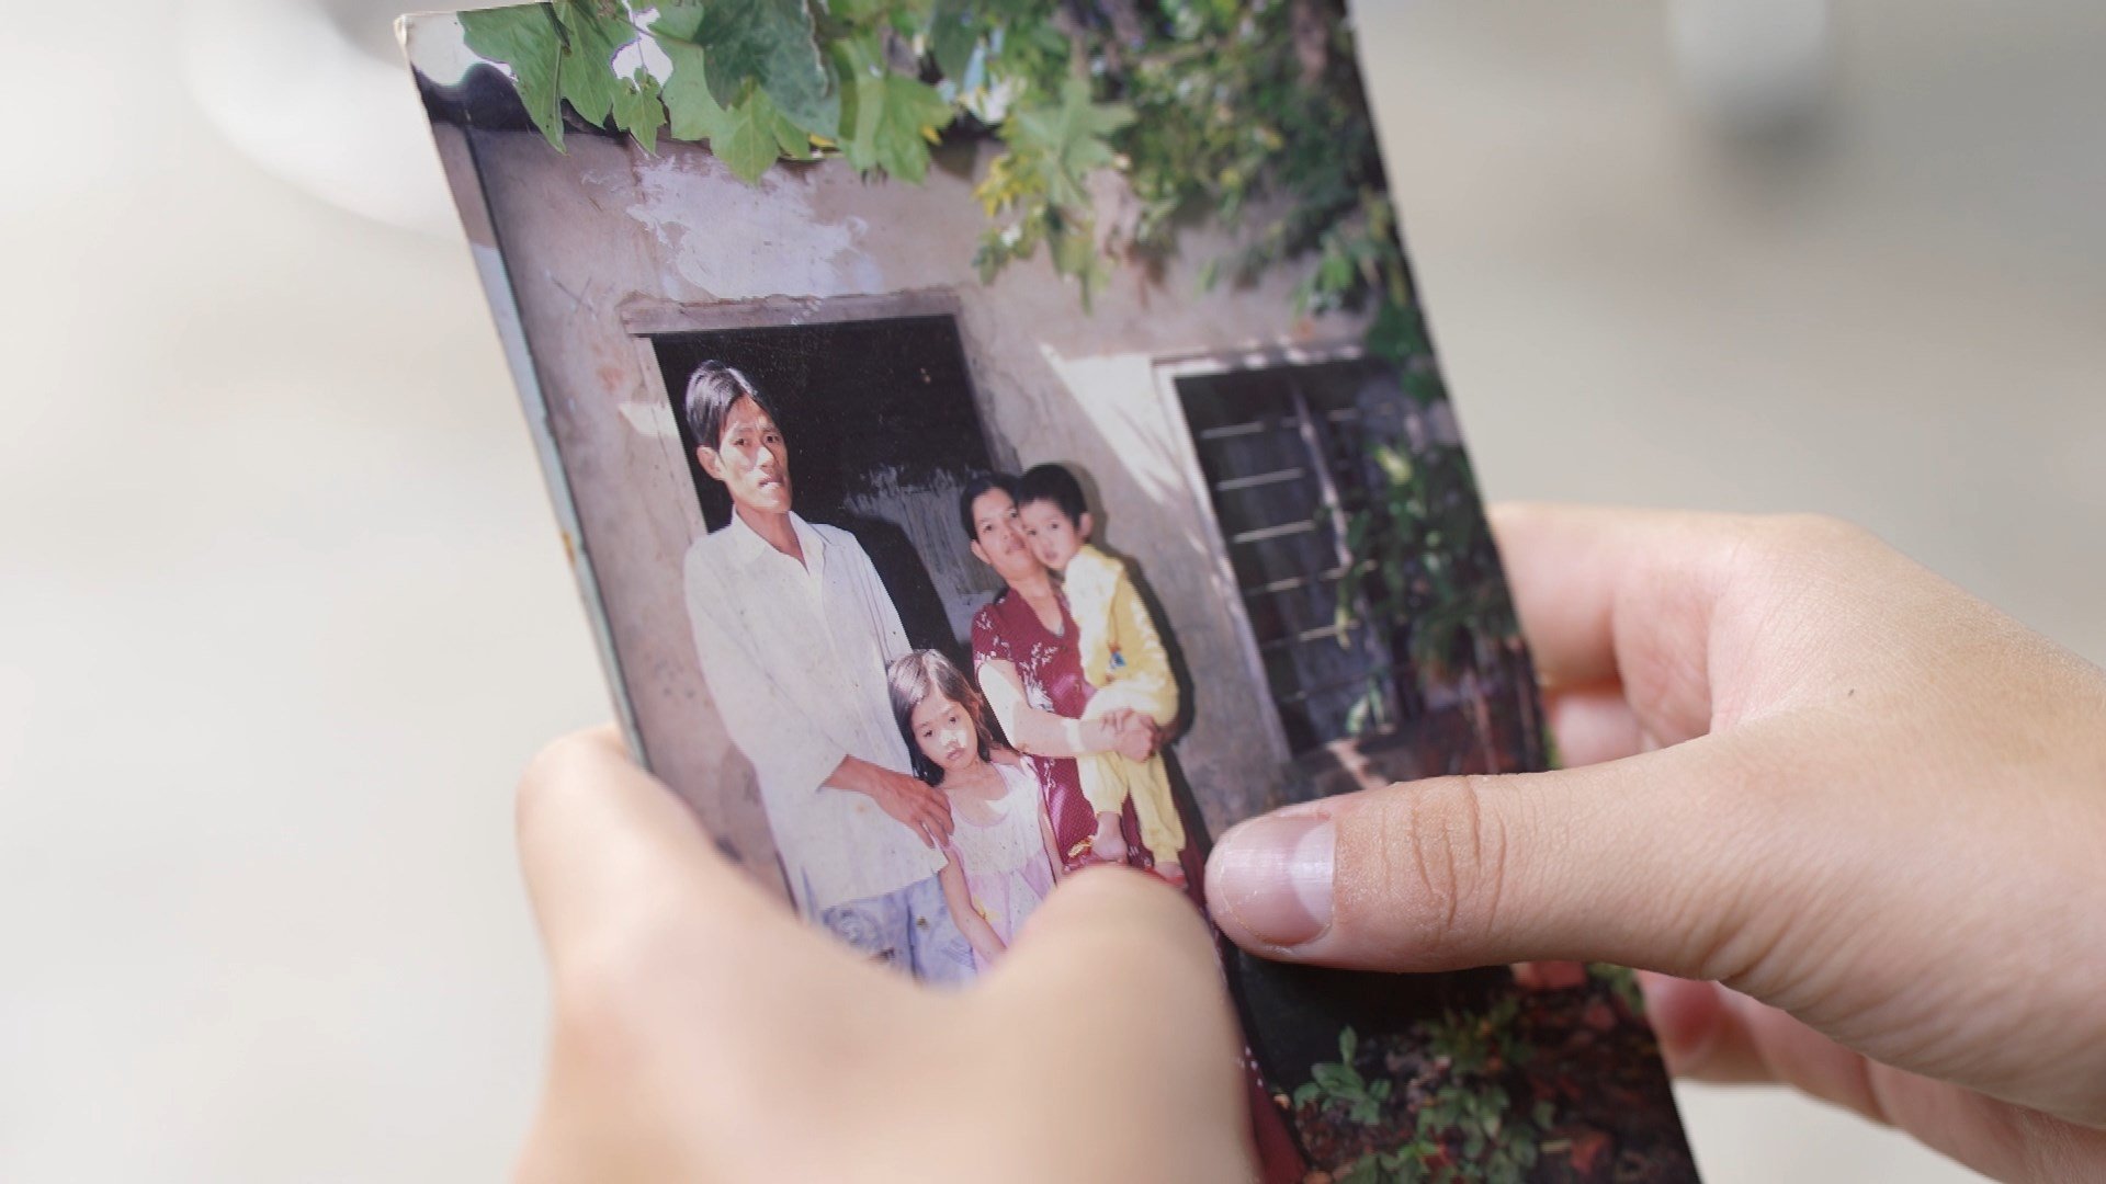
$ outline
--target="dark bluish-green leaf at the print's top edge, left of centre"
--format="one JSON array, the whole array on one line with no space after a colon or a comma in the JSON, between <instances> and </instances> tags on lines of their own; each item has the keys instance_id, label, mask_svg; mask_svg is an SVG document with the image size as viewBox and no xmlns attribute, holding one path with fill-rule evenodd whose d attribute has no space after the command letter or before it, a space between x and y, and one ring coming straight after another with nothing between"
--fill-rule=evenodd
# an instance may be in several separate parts
<instances>
[{"instance_id":1,"label":"dark bluish-green leaf at the print's top edge, left of centre","mask_svg":"<svg viewBox=\"0 0 2106 1184\"><path fill-rule=\"evenodd\" d=\"M710 95L735 107L756 86L796 126L840 135L840 88L826 67L804 0L710 0L695 42L710 51Z\"/></svg>"}]
</instances>

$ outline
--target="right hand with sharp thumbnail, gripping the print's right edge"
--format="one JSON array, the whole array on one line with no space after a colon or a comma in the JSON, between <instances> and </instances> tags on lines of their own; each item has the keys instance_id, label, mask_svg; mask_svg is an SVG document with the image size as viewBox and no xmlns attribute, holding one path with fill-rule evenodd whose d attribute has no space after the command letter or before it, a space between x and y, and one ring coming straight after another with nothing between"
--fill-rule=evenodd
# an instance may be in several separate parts
<instances>
[{"instance_id":1,"label":"right hand with sharp thumbnail, gripping the print's right edge","mask_svg":"<svg viewBox=\"0 0 2106 1184\"><path fill-rule=\"evenodd\" d=\"M1678 1072L2106 1178L2106 674L1839 522L1495 522L1592 767L1249 822L1207 868L1221 927L1352 967L1685 975L1649 984Z\"/></svg>"}]
</instances>

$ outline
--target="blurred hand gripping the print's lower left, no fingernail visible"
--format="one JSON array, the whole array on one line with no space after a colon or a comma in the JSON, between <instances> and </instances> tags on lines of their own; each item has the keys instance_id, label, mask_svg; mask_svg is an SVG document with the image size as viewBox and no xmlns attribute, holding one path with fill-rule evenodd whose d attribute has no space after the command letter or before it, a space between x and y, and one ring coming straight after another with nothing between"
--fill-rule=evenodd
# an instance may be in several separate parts
<instances>
[{"instance_id":1,"label":"blurred hand gripping the print's lower left, no fingernail visible","mask_svg":"<svg viewBox=\"0 0 2106 1184\"><path fill-rule=\"evenodd\" d=\"M518 830L556 1011L522 1182L1251 1178L1213 940L1154 876L1072 876L935 992L762 893L613 731L535 761Z\"/></svg>"}]
</instances>

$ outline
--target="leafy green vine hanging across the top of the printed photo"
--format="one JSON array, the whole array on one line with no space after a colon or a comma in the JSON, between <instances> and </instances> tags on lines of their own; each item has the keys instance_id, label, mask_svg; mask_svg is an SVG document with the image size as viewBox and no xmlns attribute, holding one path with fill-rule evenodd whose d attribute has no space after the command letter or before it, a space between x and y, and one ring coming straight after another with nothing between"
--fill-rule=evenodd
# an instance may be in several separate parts
<instances>
[{"instance_id":1,"label":"leafy green vine hanging across the top of the printed photo","mask_svg":"<svg viewBox=\"0 0 2106 1184\"><path fill-rule=\"evenodd\" d=\"M1205 284L1310 259L1297 312L1373 308L1375 356L1426 352L1339 0L554 0L461 27L558 147L569 103L647 152L706 141L748 181L840 156L918 183L939 133L975 124L1002 143L984 276L1045 246L1087 303L1211 219L1245 234ZM1129 194L1108 219L1104 169Z\"/></svg>"}]
</instances>

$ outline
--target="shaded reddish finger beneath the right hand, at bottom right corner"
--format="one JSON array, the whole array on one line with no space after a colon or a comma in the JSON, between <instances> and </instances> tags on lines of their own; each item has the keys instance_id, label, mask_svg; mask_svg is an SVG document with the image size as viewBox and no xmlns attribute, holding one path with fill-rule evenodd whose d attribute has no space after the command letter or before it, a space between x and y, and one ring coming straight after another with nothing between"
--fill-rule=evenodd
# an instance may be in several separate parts
<instances>
[{"instance_id":1,"label":"shaded reddish finger beneath the right hand, at bottom right corner","mask_svg":"<svg viewBox=\"0 0 2106 1184\"><path fill-rule=\"evenodd\" d=\"M1996 1180L2079 1180L2106 1169L2106 1131L1879 1064L1714 982L1641 973L1641 984L1674 1077L1790 1085Z\"/></svg>"}]
</instances>

